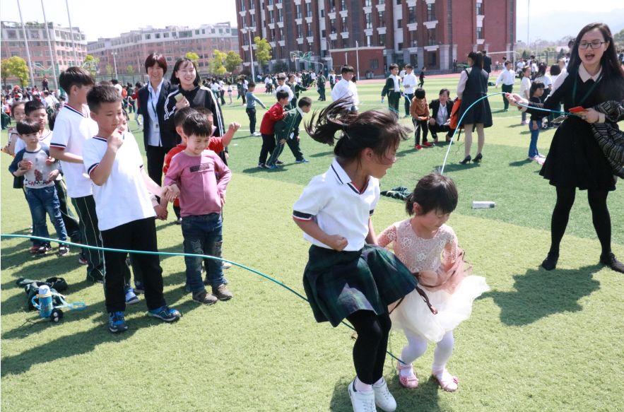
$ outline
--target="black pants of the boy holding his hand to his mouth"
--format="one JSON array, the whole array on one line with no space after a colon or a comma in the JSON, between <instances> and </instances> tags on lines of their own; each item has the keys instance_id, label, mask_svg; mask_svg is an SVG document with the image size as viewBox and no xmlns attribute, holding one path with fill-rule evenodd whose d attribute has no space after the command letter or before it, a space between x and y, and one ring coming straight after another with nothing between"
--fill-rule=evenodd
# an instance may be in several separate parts
<instances>
[{"instance_id":1,"label":"black pants of the boy holding his hand to his mouth","mask_svg":"<svg viewBox=\"0 0 624 412\"><path fill-rule=\"evenodd\" d=\"M102 240L105 247L112 249L158 252L154 218L133 220L116 228L102 230ZM104 252L104 255L106 259L106 276L104 278L106 310L107 312L124 311L126 309L124 272L128 267L126 265L127 253ZM163 269L160 267L158 255L134 254L132 261L133 264L140 267L143 275L148 310L165 305Z\"/></svg>"}]
</instances>

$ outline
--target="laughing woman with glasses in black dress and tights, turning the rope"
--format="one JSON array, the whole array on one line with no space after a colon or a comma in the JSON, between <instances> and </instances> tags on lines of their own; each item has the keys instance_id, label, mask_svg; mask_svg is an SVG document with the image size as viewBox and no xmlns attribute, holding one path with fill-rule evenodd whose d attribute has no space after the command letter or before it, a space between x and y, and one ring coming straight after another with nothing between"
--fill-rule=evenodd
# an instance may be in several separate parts
<instances>
[{"instance_id":1,"label":"laughing woman with glasses in black dress and tights, turning the rope","mask_svg":"<svg viewBox=\"0 0 624 412\"><path fill-rule=\"evenodd\" d=\"M524 102L519 95L510 95L512 105ZM586 25L576 37L567 72L562 73L553 92L543 105L556 109L560 102L568 112L572 107L594 107L607 100L624 99L624 71L613 47L611 30L604 23ZM591 134L590 123L611 122L596 110L586 109L579 116L570 116L553 136L551 149L540 175L557 189L557 203L551 220L551 249L542 262L548 271L555 269L559 245L576 189L587 190L591 217L601 245L600 262L614 271L624 273L624 264L611 252L611 217L607 208L608 192L616 189L613 171ZM611 122L611 126L618 125Z\"/></svg>"}]
</instances>

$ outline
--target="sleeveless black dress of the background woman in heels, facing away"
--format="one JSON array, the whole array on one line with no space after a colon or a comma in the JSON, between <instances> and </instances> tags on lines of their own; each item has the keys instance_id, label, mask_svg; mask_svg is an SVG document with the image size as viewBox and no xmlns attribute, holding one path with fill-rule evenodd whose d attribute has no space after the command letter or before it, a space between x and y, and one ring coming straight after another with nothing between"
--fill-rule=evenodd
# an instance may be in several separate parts
<instances>
[{"instance_id":1,"label":"sleeveless black dress of the background woman in heels, facing away","mask_svg":"<svg viewBox=\"0 0 624 412\"><path fill-rule=\"evenodd\" d=\"M466 112L470 105L488 94L487 71L472 66L470 71L466 70L466 73L468 73L468 81L466 81L466 88L464 88L464 93L461 95L461 105L458 112L459 119L461 119L462 114ZM492 126L492 110L490 110L488 99L483 99L471 107L464 119L461 119L459 125L478 123L483 123L483 127Z\"/></svg>"}]
</instances>

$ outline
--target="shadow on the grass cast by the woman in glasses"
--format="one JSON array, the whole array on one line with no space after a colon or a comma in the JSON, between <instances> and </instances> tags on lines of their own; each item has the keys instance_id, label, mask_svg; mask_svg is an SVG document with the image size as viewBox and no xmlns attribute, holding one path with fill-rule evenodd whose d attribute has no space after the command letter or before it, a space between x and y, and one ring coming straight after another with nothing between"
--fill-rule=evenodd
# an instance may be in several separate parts
<instances>
[{"instance_id":1,"label":"shadow on the grass cast by the woman in glasses","mask_svg":"<svg viewBox=\"0 0 624 412\"><path fill-rule=\"evenodd\" d=\"M524 326L551 314L579 312L579 299L599 290L592 278L601 265L579 269L529 269L514 275L514 291L484 293L481 299L493 298L500 307L500 320L509 326Z\"/></svg>"}]
</instances>

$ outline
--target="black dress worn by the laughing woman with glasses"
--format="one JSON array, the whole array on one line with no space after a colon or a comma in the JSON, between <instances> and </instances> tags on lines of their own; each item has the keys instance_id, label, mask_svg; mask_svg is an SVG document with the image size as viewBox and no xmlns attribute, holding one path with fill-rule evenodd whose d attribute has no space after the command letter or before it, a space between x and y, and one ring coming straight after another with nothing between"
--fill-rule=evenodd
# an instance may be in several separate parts
<instances>
[{"instance_id":1,"label":"black dress worn by the laughing woman with glasses","mask_svg":"<svg viewBox=\"0 0 624 412\"><path fill-rule=\"evenodd\" d=\"M543 106L556 110L560 102L563 102L566 112L576 106L594 107L606 100L622 100L620 90L621 88L613 87L604 78L599 78L597 83L591 78L583 83L575 70L570 72ZM609 122L608 119L606 122ZM618 124L610 124L618 129ZM556 187L577 187L581 190L616 189L613 171L591 134L591 126L575 116L567 117L555 131L551 149L539 174Z\"/></svg>"}]
</instances>

